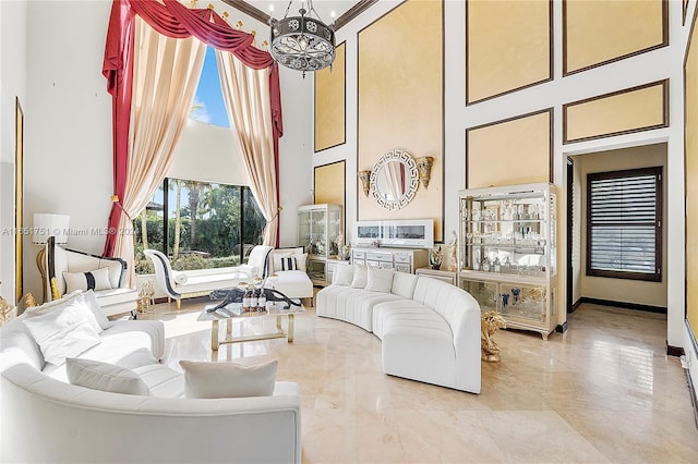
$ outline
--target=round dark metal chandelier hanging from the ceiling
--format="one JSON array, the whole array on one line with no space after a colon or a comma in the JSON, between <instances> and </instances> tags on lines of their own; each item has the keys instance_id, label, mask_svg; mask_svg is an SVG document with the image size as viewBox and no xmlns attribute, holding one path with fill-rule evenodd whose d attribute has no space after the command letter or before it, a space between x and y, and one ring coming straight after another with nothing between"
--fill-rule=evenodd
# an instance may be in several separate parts
<instances>
[{"instance_id":1,"label":"round dark metal chandelier hanging from the ceiling","mask_svg":"<svg viewBox=\"0 0 698 464\"><path fill-rule=\"evenodd\" d=\"M320 71L335 61L335 32L332 24L322 22L312 0L301 2L300 16L288 17L292 1L282 20L269 19L270 53L279 64L302 71L305 77L305 71ZM305 4L308 9L303 8Z\"/></svg>"}]
</instances>

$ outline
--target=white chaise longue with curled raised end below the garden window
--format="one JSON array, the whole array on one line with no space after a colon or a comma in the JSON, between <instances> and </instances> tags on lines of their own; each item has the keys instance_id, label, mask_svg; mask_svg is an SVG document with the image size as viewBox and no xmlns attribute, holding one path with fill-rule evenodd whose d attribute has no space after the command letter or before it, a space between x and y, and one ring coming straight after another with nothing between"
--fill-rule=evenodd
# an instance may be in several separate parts
<instances>
[{"instance_id":1,"label":"white chaise longue with curled raised end below the garden window","mask_svg":"<svg viewBox=\"0 0 698 464\"><path fill-rule=\"evenodd\" d=\"M168 298L177 302L181 307L182 298L205 296L217 289L237 286L240 282L254 278L257 270L250 265L234 268L197 269L190 271L174 271L170 260L157 249L143 251L153 261L157 286ZM252 259L252 255L250 255Z\"/></svg>"}]
</instances>

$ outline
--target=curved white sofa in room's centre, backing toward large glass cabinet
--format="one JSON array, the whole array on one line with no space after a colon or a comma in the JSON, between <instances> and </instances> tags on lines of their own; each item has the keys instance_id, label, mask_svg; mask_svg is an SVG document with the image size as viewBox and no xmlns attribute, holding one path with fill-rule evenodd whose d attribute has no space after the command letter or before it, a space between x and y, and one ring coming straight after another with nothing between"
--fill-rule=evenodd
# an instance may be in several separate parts
<instances>
[{"instance_id":1,"label":"curved white sofa in room's centre, backing toward large glass cabinet","mask_svg":"<svg viewBox=\"0 0 698 464\"><path fill-rule=\"evenodd\" d=\"M342 266L347 272L357 266ZM371 288L372 272L368 269ZM341 271L344 272L344 271ZM316 314L373 332L388 375L480 393L480 305L464 290L424 276L393 272L385 291L357 280L317 292ZM358 288L357 288L358 285Z\"/></svg>"}]
</instances>

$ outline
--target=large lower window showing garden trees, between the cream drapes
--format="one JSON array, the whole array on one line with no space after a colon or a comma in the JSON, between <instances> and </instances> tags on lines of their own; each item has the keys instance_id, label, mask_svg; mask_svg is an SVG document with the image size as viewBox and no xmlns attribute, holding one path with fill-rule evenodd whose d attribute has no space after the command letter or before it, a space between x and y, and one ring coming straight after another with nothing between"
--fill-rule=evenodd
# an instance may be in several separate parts
<instances>
[{"instance_id":1,"label":"large lower window showing garden trees, between the cream drapes","mask_svg":"<svg viewBox=\"0 0 698 464\"><path fill-rule=\"evenodd\" d=\"M168 255L174 270L237 266L266 221L250 187L165 179L134 223L136 273L153 273L144 248Z\"/></svg>"}]
</instances>

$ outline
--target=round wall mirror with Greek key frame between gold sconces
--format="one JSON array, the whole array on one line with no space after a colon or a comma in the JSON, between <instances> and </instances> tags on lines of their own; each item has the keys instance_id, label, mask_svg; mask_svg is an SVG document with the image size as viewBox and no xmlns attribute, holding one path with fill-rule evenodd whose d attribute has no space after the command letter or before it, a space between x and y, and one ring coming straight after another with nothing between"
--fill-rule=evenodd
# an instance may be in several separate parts
<instances>
[{"instance_id":1,"label":"round wall mirror with Greek key frame between gold sconces","mask_svg":"<svg viewBox=\"0 0 698 464\"><path fill-rule=\"evenodd\" d=\"M407 151L387 151L373 167L370 183L373 198L383 208L405 208L414 198L419 186L417 163Z\"/></svg>"}]
</instances>

